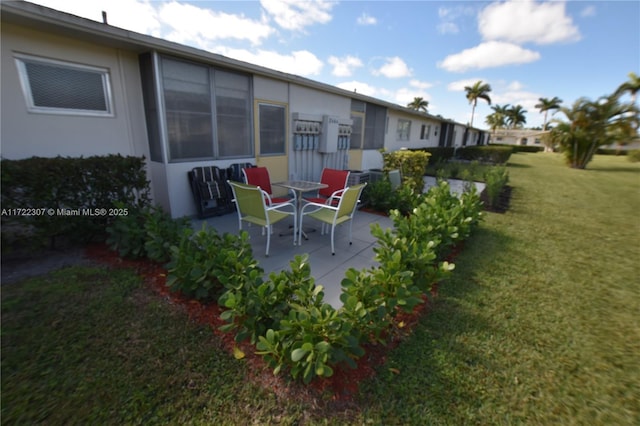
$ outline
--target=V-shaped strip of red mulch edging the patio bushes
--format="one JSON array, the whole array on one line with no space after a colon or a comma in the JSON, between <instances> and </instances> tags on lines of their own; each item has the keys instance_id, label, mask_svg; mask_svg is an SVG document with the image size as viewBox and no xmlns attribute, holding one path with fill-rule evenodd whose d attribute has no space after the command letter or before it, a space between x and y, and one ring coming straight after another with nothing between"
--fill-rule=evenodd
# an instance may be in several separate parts
<instances>
[{"instance_id":1,"label":"V-shaped strip of red mulch edging the patio bushes","mask_svg":"<svg viewBox=\"0 0 640 426\"><path fill-rule=\"evenodd\" d=\"M460 247L454 250L447 260L452 261L459 250ZM387 336L387 345L365 345L366 353L358 359L357 368L337 366L334 368L332 377L315 378L309 386L304 387L300 383L283 377L286 375L274 376L263 359L254 353L254 347L251 344L248 342L236 343L232 333L221 332L219 327L224 325L225 322L220 319L221 309L216 303L203 304L171 292L166 285L167 271L162 265L148 260L122 259L106 245L87 247L86 256L91 260L111 267L134 269L157 294L168 300L170 304L185 309L191 320L209 325L229 354L233 354L234 347L240 348L245 354L243 361L250 366L247 371L265 389L289 399L306 400L313 403L314 406L318 406L319 403L331 403L335 408L340 406L348 407L352 397L358 392L360 382L375 375L376 368L386 362L387 353L411 334L413 327L417 324L420 316L428 311L430 304L429 299L424 296L425 303L416 306L413 312L398 315L389 336ZM437 284L434 284L431 290L432 298L437 296L437 292Z\"/></svg>"}]
</instances>

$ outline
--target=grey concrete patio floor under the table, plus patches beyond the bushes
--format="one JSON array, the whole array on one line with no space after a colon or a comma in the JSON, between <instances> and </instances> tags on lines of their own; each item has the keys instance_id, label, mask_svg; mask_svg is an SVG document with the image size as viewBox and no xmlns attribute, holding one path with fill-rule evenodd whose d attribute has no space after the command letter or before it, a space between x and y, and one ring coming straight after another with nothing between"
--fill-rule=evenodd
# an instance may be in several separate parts
<instances>
[{"instance_id":1,"label":"grey concrete patio floor under the table, plus patches beyond the bushes","mask_svg":"<svg viewBox=\"0 0 640 426\"><path fill-rule=\"evenodd\" d=\"M435 178L425 177L424 191L426 192L435 183ZM452 193L461 193L463 190L463 181L449 180L449 185ZM481 192L484 184L476 183L476 187L478 192ZM238 215L235 211L204 220L194 219L192 221L194 229L200 229L203 222L219 233L238 234ZM303 239L300 246L293 245L293 236L289 230L289 225L292 225L293 221L284 220L277 223L271 235L268 257L265 256L267 236L262 235L262 230L258 226L249 226L246 222L243 223L242 228L249 233L253 255L260 267L264 269L266 276L271 272L290 269L289 263L295 255L308 254L311 276L314 277L316 285L324 287L325 302L339 308L342 306L340 282L345 272L349 268L361 270L377 264L374 261L373 252L377 241L371 235L372 223L379 223L383 229L393 226L393 221L388 217L358 210L353 219L352 245L349 245L349 225L340 225L336 229L335 256L331 255L331 234L320 235L320 222L313 219L305 220L304 228L307 232L309 229L315 229L315 232L308 232L309 239ZM280 236L280 234L286 235Z\"/></svg>"}]
</instances>

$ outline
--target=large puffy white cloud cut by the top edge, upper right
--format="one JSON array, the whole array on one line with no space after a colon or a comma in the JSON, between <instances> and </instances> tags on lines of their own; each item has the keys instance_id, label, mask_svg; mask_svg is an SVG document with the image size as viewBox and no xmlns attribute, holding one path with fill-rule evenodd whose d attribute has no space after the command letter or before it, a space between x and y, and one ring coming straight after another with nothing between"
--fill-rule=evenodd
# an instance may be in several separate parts
<instances>
[{"instance_id":1,"label":"large puffy white cloud cut by the top edge, upper right","mask_svg":"<svg viewBox=\"0 0 640 426\"><path fill-rule=\"evenodd\" d=\"M478 28L485 40L536 44L580 40L580 31L565 13L564 2L492 3L478 14Z\"/></svg>"}]
</instances>

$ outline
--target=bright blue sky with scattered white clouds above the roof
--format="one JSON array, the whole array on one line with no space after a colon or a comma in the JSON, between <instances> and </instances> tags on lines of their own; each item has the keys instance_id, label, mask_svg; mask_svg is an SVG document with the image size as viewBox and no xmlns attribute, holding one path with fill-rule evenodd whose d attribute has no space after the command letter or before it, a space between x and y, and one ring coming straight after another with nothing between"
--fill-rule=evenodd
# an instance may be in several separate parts
<instances>
[{"instance_id":1,"label":"bright blue sky with scattered white clouds above the roof","mask_svg":"<svg viewBox=\"0 0 640 426\"><path fill-rule=\"evenodd\" d=\"M640 2L33 0L466 123L464 86L520 104L595 99L640 74ZM474 125L492 110L480 100Z\"/></svg>"}]
</instances>

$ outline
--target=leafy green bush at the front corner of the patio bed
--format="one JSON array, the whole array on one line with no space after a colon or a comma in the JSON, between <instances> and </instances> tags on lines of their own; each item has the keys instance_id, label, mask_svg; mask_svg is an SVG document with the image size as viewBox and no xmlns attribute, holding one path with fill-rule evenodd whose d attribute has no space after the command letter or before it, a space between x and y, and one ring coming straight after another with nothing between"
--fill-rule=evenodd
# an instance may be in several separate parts
<instances>
[{"instance_id":1,"label":"leafy green bush at the front corner of the patio bed","mask_svg":"<svg viewBox=\"0 0 640 426\"><path fill-rule=\"evenodd\" d=\"M308 255L296 256L291 271L271 273L262 281L257 269L245 279L225 285L219 303L227 310L224 331L236 331L236 341L249 339L274 369L309 383L330 377L333 367L364 354L348 319L324 303L322 286L316 286Z\"/></svg>"}]
</instances>

